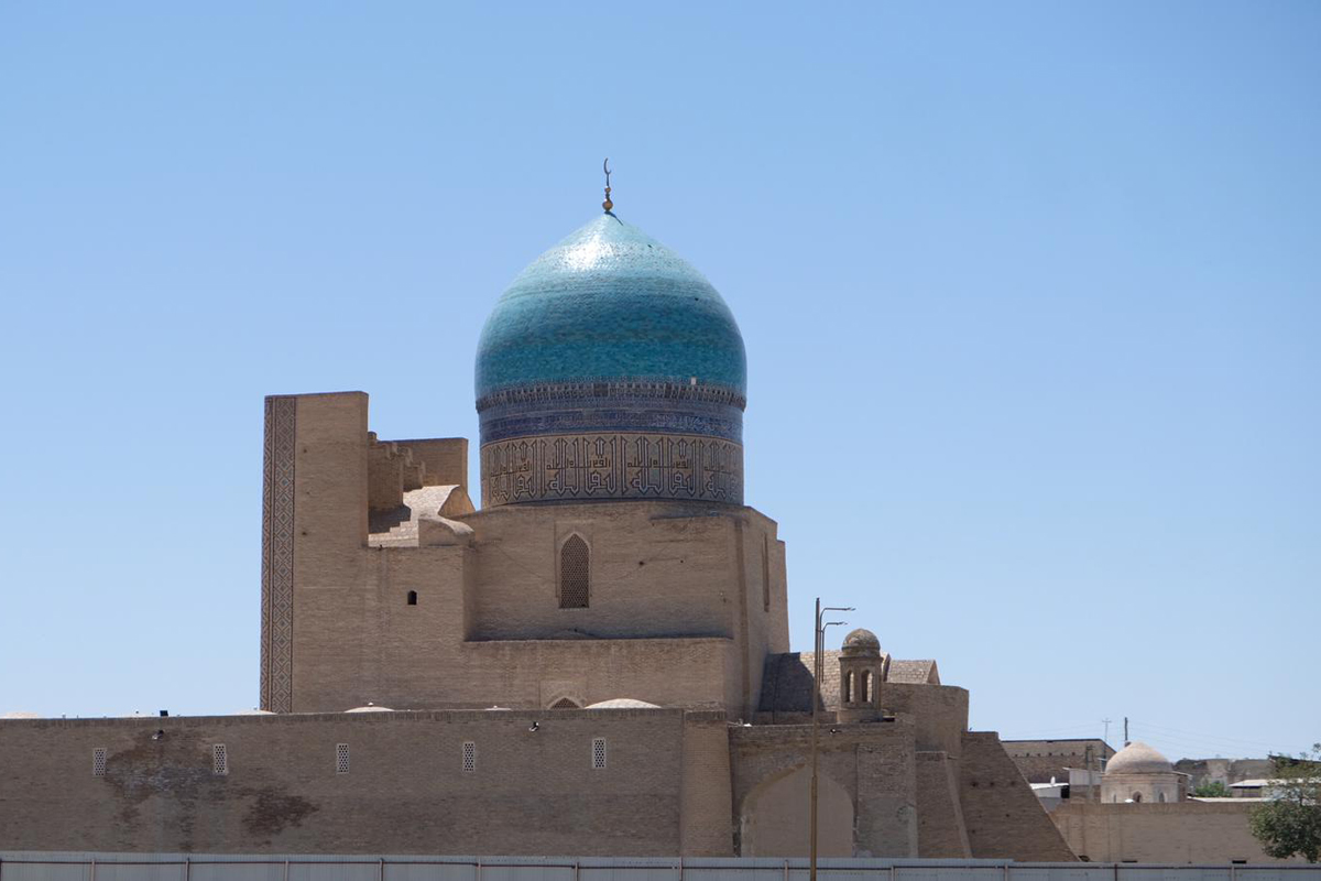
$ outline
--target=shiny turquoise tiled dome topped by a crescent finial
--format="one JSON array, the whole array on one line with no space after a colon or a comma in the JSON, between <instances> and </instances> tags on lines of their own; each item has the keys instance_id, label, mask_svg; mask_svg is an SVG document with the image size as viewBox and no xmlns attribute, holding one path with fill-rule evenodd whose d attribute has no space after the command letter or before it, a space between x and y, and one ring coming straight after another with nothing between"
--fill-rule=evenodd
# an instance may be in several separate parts
<instances>
[{"instance_id":1,"label":"shiny turquoise tiled dome topped by a crescent finial","mask_svg":"<svg viewBox=\"0 0 1321 881\"><path fill-rule=\"evenodd\" d=\"M602 214L532 262L486 320L477 398L583 380L700 384L746 395L729 306L700 272ZM696 382L694 382L696 380Z\"/></svg>"}]
</instances>

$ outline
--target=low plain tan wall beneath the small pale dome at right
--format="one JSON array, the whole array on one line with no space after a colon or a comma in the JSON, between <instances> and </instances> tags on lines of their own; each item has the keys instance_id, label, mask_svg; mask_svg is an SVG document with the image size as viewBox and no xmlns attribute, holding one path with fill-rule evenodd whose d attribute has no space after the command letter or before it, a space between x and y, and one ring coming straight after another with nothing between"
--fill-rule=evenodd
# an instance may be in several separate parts
<instances>
[{"instance_id":1,"label":"low plain tan wall beneath the small pale dome at right","mask_svg":"<svg viewBox=\"0 0 1321 881\"><path fill-rule=\"evenodd\" d=\"M1251 804L1062 802L1050 814L1069 847L1092 863L1284 863L1248 831ZM1301 860L1293 860L1301 861Z\"/></svg>"}]
</instances>

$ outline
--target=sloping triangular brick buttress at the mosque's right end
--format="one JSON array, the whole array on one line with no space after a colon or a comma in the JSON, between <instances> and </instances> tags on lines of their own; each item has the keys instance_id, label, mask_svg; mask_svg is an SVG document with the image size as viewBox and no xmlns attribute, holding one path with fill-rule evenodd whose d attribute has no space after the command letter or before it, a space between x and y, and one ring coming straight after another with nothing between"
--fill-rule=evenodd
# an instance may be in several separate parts
<instances>
[{"instance_id":1,"label":"sloping triangular brick buttress at the mosque's right end","mask_svg":"<svg viewBox=\"0 0 1321 881\"><path fill-rule=\"evenodd\" d=\"M959 778L963 822L974 857L1077 859L995 732L963 736Z\"/></svg>"}]
</instances>

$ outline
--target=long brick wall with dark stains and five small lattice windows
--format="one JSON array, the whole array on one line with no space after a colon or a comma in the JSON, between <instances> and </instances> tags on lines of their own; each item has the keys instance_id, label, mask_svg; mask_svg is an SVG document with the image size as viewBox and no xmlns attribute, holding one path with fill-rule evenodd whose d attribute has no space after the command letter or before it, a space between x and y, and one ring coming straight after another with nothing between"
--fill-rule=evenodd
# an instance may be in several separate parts
<instances>
[{"instance_id":1,"label":"long brick wall with dark stains and five small lattice windows","mask_svg":"<svg viewBox=\"0 0 1321 881\"><path fill-rule=\"evenodd\" d=\"M678 709L5 720L0 849L716 853L717 836L686 843L680 828L686 802L695 818L719 802L728 823L729 777L711 758L721 722L694 724L697 756ZM213 774L213 744L227 775Z\"/></svg>"}]
</instances>

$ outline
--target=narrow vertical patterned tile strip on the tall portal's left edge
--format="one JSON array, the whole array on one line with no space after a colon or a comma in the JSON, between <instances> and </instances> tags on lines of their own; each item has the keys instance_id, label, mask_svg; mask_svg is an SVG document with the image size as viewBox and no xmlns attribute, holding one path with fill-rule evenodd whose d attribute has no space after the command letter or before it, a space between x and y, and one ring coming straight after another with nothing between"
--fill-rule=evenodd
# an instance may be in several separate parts
<instances>
[{"instance_id":1,"label":"narrow vertical patterned tile strip on the tall portal's left edge","mask_svg":"<svg viewBox=\"0 0 1321 881\"><path fill-rule=\"evenodd\" d=\"M293 460L299 402L266 399L262 472L262 709L293 709Z\"/></svg>"}]
</instances>

